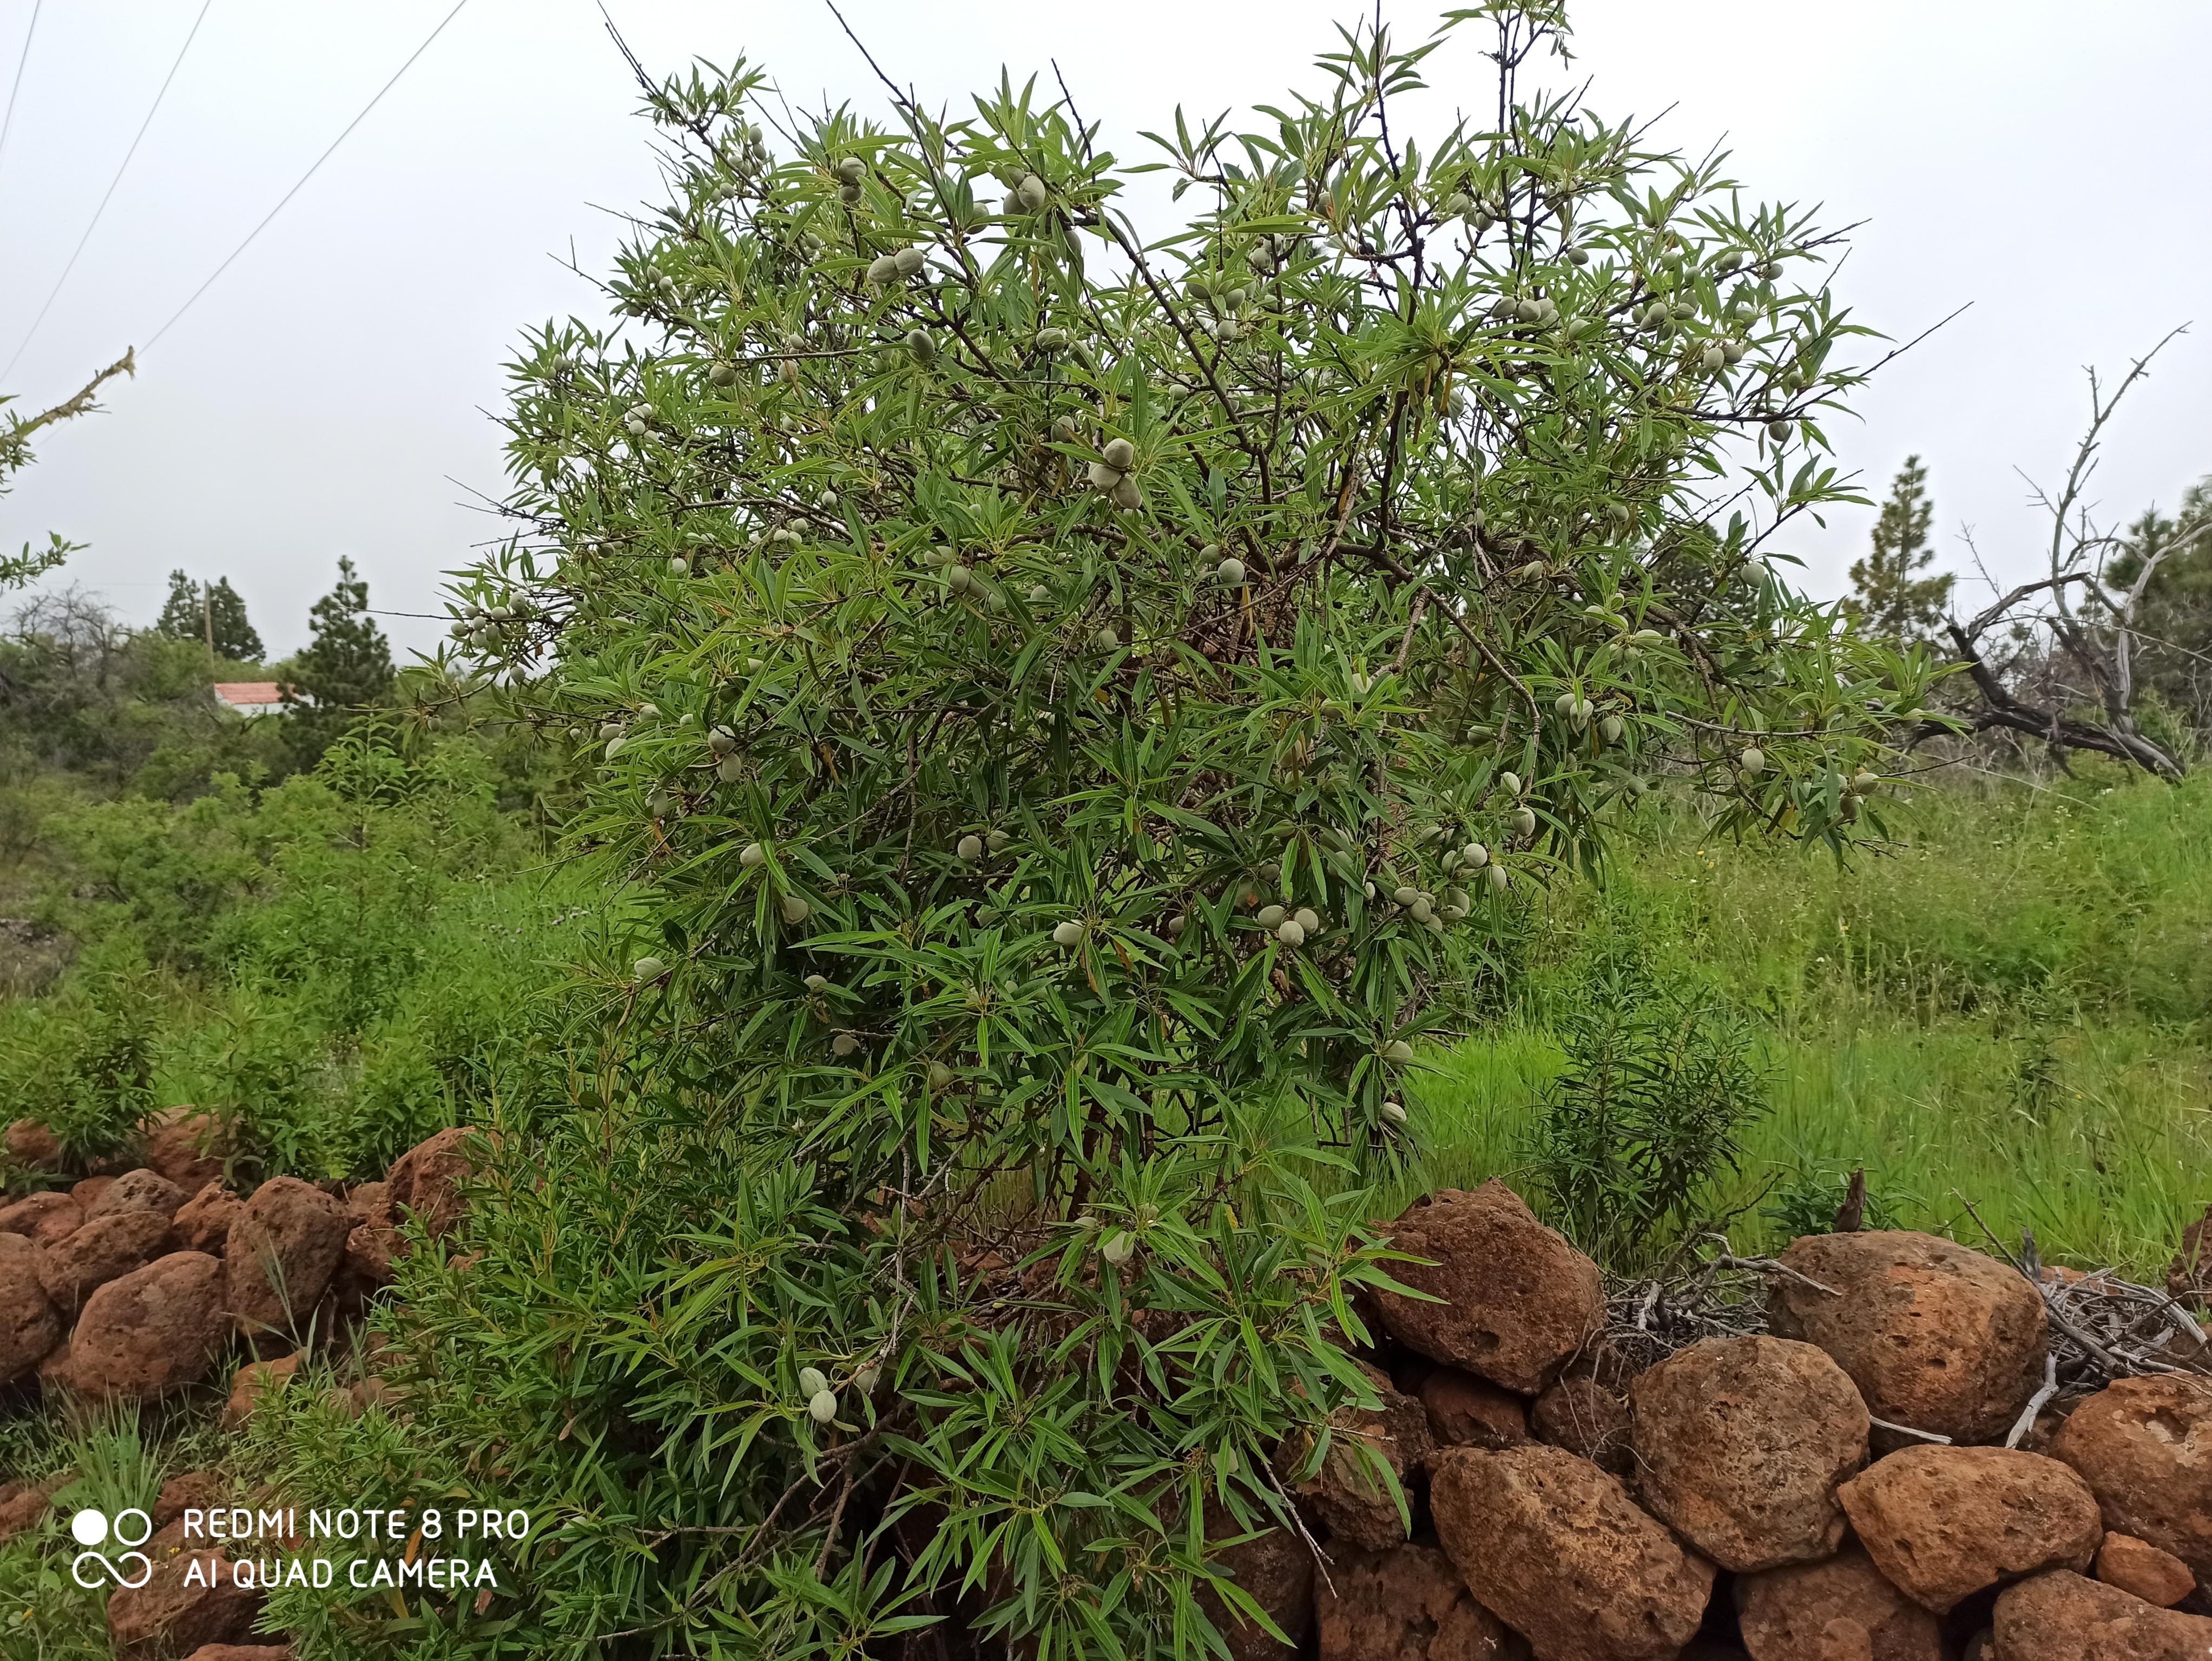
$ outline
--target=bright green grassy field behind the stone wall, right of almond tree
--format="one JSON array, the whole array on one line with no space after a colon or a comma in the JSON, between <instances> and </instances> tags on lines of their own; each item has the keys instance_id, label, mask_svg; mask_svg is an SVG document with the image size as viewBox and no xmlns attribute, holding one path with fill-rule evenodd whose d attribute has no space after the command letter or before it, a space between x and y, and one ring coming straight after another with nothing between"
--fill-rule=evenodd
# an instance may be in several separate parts
<instances>
[{"instance_id":1,"label":"bright green grassy field behind the stone wall, right of almond tree","mask_svg":"<svg viewBox=\"0 0 2212 1661\"><path fill-rule=\"evenodd\" d=\"M1559 1000L1641 942L1765 1033L1739 1247L1834 1212L1865 1166L1898 1225L1982 1243L1971 1203L2048 1258L2163 1274L2212 1203L2212 781L1947 785L1891 829L1838 871L1652 814L1604 885L1553 898L1511 1015L1436 1057L1416 1181L1524 1170Z\"/></svg>"}]
</instances>

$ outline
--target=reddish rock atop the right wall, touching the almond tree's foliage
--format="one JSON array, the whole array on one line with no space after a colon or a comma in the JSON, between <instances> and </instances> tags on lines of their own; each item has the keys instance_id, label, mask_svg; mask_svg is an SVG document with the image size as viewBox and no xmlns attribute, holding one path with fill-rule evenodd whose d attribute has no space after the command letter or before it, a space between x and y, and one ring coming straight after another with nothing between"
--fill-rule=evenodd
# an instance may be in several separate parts
<instances>
[{"instance_id":1,"label":"reddish rock atop the right wall, touching the almond tree's foliage","mask_svg":"<svg viewBox=\"0 0 2212 1661\"><path fill-rule=\"evenodd\" d=\"M1597 1265L1500 1181L1444 1188L1389 1225L1391 1278L1440 1303L1376 1294L1383 1325L1407 1349L1535 1396L1595 1340L1606 1318Z\"/></svg>"}]
</instances>

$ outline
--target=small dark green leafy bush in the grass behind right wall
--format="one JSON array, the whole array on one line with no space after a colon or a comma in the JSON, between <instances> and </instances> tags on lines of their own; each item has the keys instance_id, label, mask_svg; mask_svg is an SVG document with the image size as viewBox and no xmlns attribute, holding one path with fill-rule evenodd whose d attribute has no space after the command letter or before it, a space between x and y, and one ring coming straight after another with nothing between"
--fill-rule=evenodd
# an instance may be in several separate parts
<instances>
[{"instance_id":1,"label":"small dark green leafy bush in the grass behind right wall","mask_svg":"<svg viewBox=\"0 0 2212 1661\"><path fill-rule=\"evenodd\" d=\"M1619 1272L1648 1270L1719 1216L1765 1112L1759 1035L1699 986L1608 973L1566 1013L1566 1066L1531 1146L1559 1228Z\"/></svg>"}]
</instances>

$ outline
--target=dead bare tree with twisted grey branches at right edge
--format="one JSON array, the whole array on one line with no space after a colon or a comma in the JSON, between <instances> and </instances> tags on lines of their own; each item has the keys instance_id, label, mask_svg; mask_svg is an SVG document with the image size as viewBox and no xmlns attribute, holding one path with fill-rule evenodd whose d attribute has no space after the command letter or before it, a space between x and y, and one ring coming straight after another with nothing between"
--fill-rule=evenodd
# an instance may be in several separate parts
<instances>
[{"instance_id":1,"label":"dead bare tree with twisted grey branches at right edge","mask_svg":"<svg viewBox=\"0 0 2212 1661\"><path fill-rule=\"evenodd\" d=\"M2053 493L2028 480L2033 502L2051 515L2048 573L2004 593L1964 624L1955 617L1944 624L1982 699L1971 719L1973 732L2042 739L2059 765L2068 750L2095 750L2163 779L2179 779L2185 772L2181 756L2143 737L2135 723L2135 621L2159 564L2212 531L2212 522L2157 549L2135 571L2135 579L2119 588L2106 579L2106 568L2126 544L2093 520L2086 500L2112 411L2148 374L2150 361L2181 332L2172 330L2137 358L2110 391L2097 369L2088 369L2090 420L2075 447L2066 482ZM1989 579L1986 568L1982 577ZM1991 588L1995 586L1991 582ZM2031 599L2037 604L2028 606ZM2011 650L1993 657L1984 639L2000 624L2006 628Z\"/></svg>"}]
</instances>

